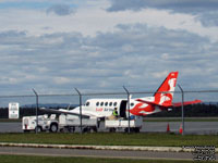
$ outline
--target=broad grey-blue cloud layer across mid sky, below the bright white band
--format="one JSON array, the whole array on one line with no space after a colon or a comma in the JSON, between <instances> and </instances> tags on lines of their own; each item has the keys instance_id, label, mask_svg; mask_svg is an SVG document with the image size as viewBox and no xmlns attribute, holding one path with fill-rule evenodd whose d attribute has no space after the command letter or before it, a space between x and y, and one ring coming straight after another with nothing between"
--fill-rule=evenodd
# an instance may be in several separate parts
<instances>
[{"instance_id":1,"label":"broad grey-blue cloud layer across mid sky, below the bright white band","mask_svg":"<svg viewBox=\"0 0 218 163\"><path fill-rule=\"evenodd\" d=\"M4 32L0 33L0 87L8 90L1 95L17 88L20 93L74 87L114 91L123 85L156 90L170 71L180 71L184 87L214 88L217 50L207 38L142 24L118 25L116 32L96 37Z\"/></svg>"}]
</instances>

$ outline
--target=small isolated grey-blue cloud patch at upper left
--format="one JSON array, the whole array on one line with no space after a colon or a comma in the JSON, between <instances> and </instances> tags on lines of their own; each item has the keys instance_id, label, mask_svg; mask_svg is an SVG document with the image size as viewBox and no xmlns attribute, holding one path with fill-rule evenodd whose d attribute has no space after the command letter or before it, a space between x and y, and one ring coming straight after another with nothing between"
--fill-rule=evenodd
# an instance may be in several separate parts
<instances>
[{"instance_id":1,"label":"small isolated grey-blue cloud patch at upper left","mask_svg":"<svg viewBox=\"0 0 218 163\"><path fill-rule=\"evenodd\" d=\"M70 5L66 4L55 4L47 9L47 13L55 13L59 16L65 16L75 13L75 9L72 9Z\"/></svg>"}]
</instances>

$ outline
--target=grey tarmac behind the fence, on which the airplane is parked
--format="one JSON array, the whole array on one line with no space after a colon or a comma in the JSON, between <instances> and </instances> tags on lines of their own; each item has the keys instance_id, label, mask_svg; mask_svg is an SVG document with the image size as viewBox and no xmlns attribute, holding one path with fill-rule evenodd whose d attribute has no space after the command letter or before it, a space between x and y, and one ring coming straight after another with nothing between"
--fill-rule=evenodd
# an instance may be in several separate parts
<instances>
[{"instance_id":1,"label":"grey tarmac behind the fence, on which the airplane is parked","mask_svg":"<svg viewBox=\"0 0 218 163\"><path fill-rule=\"evenodd\" d=\"M179 133L181 122L169 122L170 130ZM166 133L168 122L144 122L142 133ZM185 122L185 134L218 134L218 122ZM107 131L101 125L99 131ZM0 133L23 133L22 123L0 123Z\"/></svg>"}]
</instances>

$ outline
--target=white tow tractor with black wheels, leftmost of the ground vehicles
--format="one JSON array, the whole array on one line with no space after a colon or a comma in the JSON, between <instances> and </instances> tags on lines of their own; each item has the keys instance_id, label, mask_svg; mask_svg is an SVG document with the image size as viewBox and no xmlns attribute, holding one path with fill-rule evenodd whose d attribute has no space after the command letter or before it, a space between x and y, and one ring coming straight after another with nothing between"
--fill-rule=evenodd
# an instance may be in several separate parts
<instances>
[{"instance_id":1,"label":"white tow tractor with black wheels, leftmost of the ground vehicles","mask_svg":"<svg viewBox=\"0 0 218 163\"><path fill-rule=\"evenodd\" d=\"M58 121L56 118L56 114L51 114L48 117L48 114L39 115L38 116L38 125L36 122L36 116L24 116L22 118L22 129L24 133L34 130L36 131L46 131L50 130L52 133L58 131Z\"/></svg>"}]
</instances>

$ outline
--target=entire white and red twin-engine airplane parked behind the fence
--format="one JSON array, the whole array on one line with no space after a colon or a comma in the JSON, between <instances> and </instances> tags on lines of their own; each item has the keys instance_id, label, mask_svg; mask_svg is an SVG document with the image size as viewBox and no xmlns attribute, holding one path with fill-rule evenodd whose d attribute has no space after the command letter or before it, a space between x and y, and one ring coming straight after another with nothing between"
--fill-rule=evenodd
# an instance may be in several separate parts
<instances>
[{"instance_id":1,"label":"entire white and red twin-engine airplane parked behind the fence","mask_svg":"<svg viewBox=\"0 0 218 163\"><path fill-rule=\"evenodd\" d=\"M181 102L172 103L178 74L178 72L171 72L153 97L130 99L130 110L128 109L126 99L89 99L86 101L85 105L81 106L82 116L87 118L110 116L114 108L118 109L118 114L121 117L128 117L128 112L130 112L130 116L146 116L148 114L154 114L164 110L168 110L171 106L181 106ZM194 100L183 102L183 104L187 105L201 102L201 100ZM76 106L73 110L40 110L56 113L64 113L75 117L80 117L80 106Z\"/></svg>"}]
</instances>

